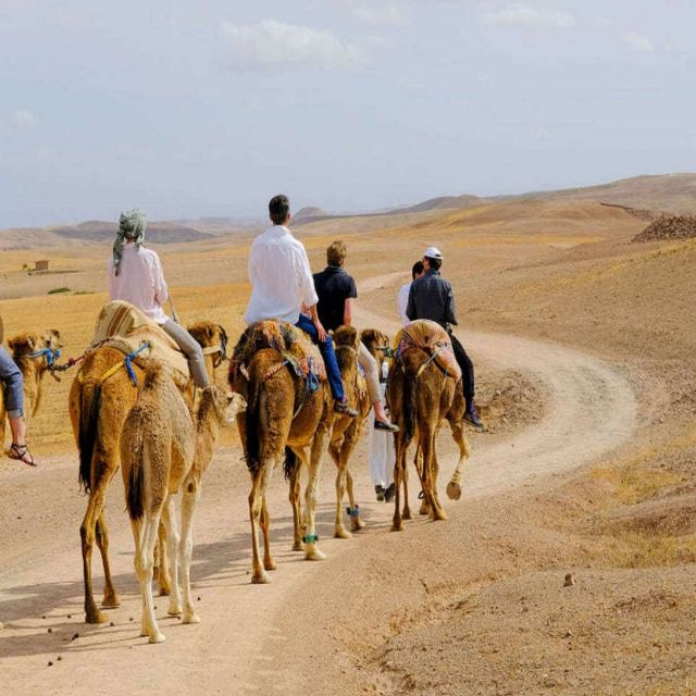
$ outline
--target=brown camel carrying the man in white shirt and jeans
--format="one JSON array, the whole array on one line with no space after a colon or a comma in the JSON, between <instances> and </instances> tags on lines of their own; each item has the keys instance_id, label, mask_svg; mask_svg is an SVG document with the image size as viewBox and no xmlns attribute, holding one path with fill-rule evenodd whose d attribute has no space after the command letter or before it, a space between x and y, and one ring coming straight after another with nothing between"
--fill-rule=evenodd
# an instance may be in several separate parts
<instances>
[{"instance_id":1,"label":"brown camel carrying the man in white shirt and jeans","mask_svg":"<svg viewBox=\"0 0 696 696\"><path fill-rule=\"evenodd\" d=\"M266 331L276 336L265 335ZM311 375L298 376L290 364L289 345L309 343L309 339L299 338L297 332L295 327L277 322L252 324L235 347L231 365L231 385L247 401L247 410L237 415L237 425L251 475L249 518L251 582L254 584L270 582L265 571L276 568L271 556L265 490L282 458L285 458L284 468L290 482L295 524L293 549L303 549L307 560L325 558L316 544L314 510L321 458L328 445L334 419L333 399L326 381L316 381L313 389ZM301 465L309 470L304 525L299 506ZM263 533L263 564L259 556L259 526Z\"/></svg>"}]
</instances>

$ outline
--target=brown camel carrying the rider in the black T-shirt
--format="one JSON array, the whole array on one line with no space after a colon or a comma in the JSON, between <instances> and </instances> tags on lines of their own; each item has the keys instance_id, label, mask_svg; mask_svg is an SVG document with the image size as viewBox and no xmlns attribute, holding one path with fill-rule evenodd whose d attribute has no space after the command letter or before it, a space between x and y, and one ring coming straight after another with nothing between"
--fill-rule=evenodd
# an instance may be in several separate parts
<instances>
[{"instance_id":1,"label":"brown camel carrying the rider in the black T-shirt","mask_svg":"<svg viewBox=\"0 0 696 696\"><path fill-rule=\"evenodd\" d=\"M336 414L328 445L328 453L337 469L336 531L334 535L341 539L351 536L344 526L343 500L346 490L349 500L346 512L350 518L350 531L357 532L364 526L364 522L360 519L360 507L353 497L352 476L348 468L348 461L356 449L362 432L362 424L371 408L365 380L358 369L358 332L352 326L339 326L334 333L336 360L340 368L346 398L348 403L359 413L358 418Z\"/></svg>"}]
</instances>

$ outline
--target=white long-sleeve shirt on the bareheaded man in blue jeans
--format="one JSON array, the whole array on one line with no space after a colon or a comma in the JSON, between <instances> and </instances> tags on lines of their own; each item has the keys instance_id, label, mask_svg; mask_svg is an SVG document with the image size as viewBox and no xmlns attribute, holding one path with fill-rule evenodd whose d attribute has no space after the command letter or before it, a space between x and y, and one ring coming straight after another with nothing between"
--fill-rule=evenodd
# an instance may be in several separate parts
<instances>
[{"instance_id":1,"label":"white long-sleeve shirt on the bareheaded man in blue jeans","mask_svg":"<svg viewBox=\"0 0 696 696\"><path fill-rule=\"evenodd\" d=\"M319 301L304 246L283 225L274 225L253 240L248 270L247 324L264 319L297 324L300 307Z\"/></svg>"}]
</instances>

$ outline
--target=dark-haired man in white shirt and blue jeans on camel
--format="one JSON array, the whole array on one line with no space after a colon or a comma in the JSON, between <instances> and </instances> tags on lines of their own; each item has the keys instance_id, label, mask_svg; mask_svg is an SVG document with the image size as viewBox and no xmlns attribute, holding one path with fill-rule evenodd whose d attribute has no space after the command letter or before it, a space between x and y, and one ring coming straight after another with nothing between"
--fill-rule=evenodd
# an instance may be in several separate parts
<instances>
[{"instance_id":1,"label":"dark-haired man in white shirt and blue jeans on camel","mask_svg":"<svg viewBox=\"0 0 696 696\"><path fill-rule=\"evenodd\" d=\"M269 214L273 227L259 235L251 245L248 266L251 298L244 320L247 324L277 320L295 324L309 334L324 358L326 376L335 399L334 409L356 418L358 411L346 401L334 344L316 314L319 298L307 251L287 228L290 222L287 197L274 196L269 203ZM311 319L300 312L302 306L309 308Z\"/></svg>"}]
</instances>

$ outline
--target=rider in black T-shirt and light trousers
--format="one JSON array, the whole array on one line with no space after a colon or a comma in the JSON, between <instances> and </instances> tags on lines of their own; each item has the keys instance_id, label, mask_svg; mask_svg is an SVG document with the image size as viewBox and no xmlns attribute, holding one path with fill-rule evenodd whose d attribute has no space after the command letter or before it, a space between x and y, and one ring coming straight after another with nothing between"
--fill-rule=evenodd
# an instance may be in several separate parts
<instances>
[{"instance_id":1,"label":"rider in black T-shirt and light trousers","mask_svg":"<svg viewBox=\"0 0 696 696\"><path fill-rule=\"evenodd\" d=\"M346 245L343 240L334 241L326 249L326 268L321 273L314 273L314 287L319 296L316 311L327 331L336 331L341 324L346 326L352 324L352 311L358 290L352 276L344 270L345 262ZM358 349L358 364L365 374L368 393L374 409L374 427L389 433L398 432L399 426L394 425L384 412L377 361L362 341Z\"/></svg>"}]
</instances>

